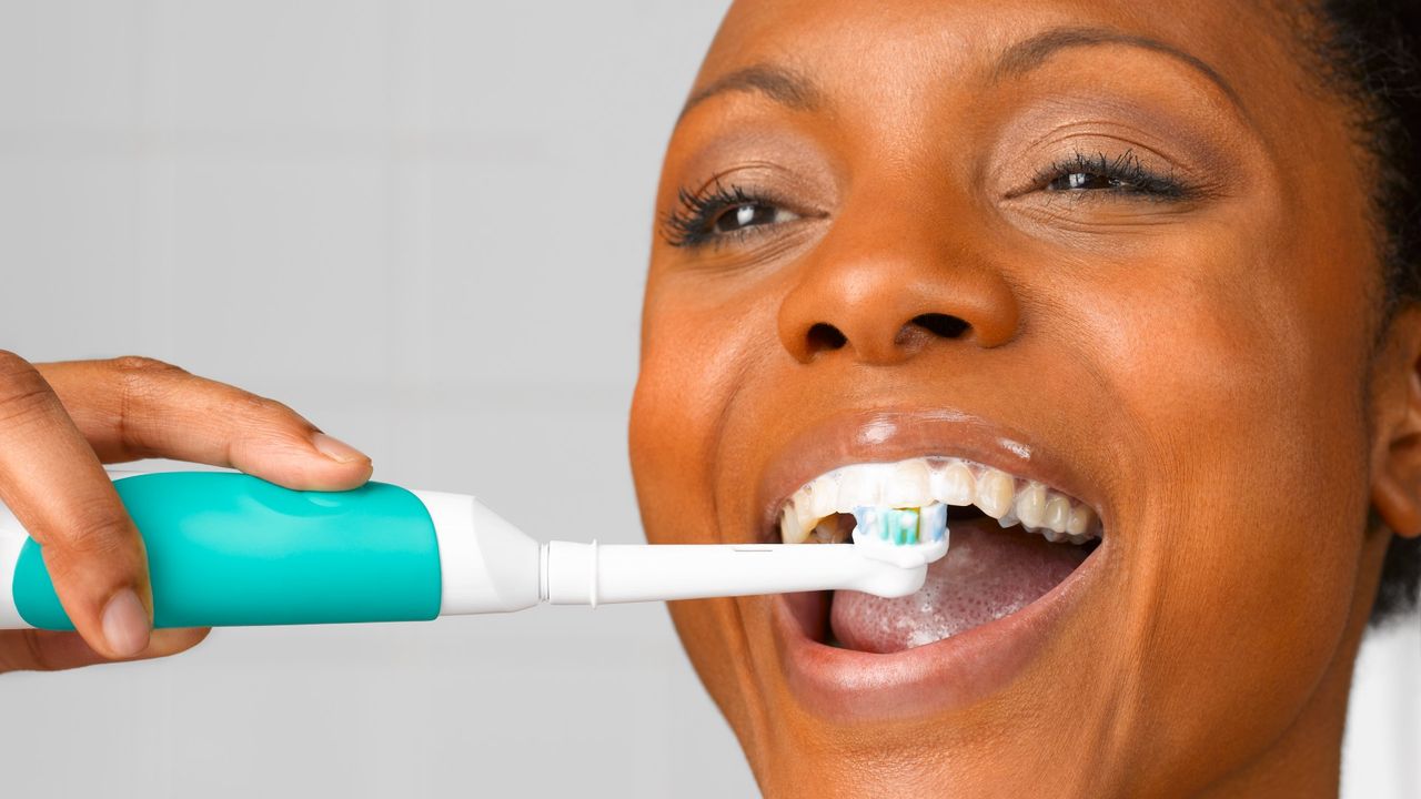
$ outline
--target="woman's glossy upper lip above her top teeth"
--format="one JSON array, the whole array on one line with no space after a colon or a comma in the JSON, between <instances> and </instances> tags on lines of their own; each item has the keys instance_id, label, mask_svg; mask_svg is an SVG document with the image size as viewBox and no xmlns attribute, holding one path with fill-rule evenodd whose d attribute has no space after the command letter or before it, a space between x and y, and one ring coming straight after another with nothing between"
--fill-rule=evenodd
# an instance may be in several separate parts
<instances>
[{"instance_id":1,"label":"woman's glossy upper lip above her top teeth","mask_svg":"<svg viewBox=\"0 0 1421 799\"><path fill-rule=\"evenodd\" d=\"M784 502L824 472L848 463L924 455L965 458L1046 483L1091 506L1110 527L1108 508L1098 489L1070 461L1025 431L948 408L880 408L833 417L790 441L760 476L756 535L762 542L776 540Z\"/></svg>"}]
</instances>

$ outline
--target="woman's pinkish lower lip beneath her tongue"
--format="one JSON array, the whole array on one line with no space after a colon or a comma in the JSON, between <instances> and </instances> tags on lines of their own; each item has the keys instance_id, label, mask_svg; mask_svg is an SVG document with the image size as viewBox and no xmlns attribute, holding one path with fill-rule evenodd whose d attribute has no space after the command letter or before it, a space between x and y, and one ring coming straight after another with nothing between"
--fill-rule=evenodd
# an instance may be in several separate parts
<instances>
[{"instance_id":1,"label":"woman's pinkish lower lip beneath her tongue","mask_svg":"<svg viewBox=\"0 0 1421 799\"><path fill-rule=\"evenodd\" d=\"M770 603L776 651L791 694L831 721L887 721L968 708L1010 685L1054 637L1100 570L1106 542L1060 584L1022 610L901 653L844 650L810 637L826 593Z\"/></svg>"}]
</instances>

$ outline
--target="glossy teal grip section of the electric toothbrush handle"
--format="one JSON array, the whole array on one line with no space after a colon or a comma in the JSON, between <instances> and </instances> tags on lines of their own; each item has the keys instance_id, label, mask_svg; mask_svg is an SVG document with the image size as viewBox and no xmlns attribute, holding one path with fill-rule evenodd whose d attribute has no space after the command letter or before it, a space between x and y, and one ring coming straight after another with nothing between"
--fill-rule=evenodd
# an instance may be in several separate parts
<instances>
[{"instance_id":1,"label":"glossy teal grip section of the electric toothbrush handle","mask_svg":"<svg viewBox=\"0 0 1421 799\"><path fill-rule=\"evenodd\" d=\"M159 472L114 483L142 533L155 627L416 621L439 616L435 526L388 483L301 492L232 472ZM44 630L72 630L27 540L14 604Z\"/></svg>"}]
</instances>

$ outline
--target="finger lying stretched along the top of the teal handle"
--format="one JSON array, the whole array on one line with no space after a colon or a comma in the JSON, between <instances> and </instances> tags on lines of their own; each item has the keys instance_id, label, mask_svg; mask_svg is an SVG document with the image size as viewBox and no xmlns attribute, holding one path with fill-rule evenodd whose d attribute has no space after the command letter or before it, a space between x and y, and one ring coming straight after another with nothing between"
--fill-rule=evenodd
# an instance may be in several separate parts
<instances>
[{"instance_id":1,"label":"finger lying stretched along the top of the teal handle","mask_svg":"<svg viewBox=\"0 0 1421 799\"><path fill-rule=\"evenodd\" d=\"M232 466L294 489L342 490L369 458L286 405L151 358L41 364L105 462L175 458Z\"/></svg>"}]
</instances>

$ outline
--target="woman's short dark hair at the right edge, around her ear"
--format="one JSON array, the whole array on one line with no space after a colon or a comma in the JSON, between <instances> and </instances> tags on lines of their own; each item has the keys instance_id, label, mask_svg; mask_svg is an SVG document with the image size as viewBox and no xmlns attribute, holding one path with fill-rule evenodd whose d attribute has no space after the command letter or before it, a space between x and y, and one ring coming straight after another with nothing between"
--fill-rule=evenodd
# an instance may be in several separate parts
<instances>
[{"instance_id":1,"label":"woman's short dark hair at the right edge, around her ear","mask_svg":"<svg viewBox=\"0 0 1421 799\"><path fill-rule=\"evenodd\" d=\"M1312 0L1295 9L1323 85L1351 108L1370 155L1381 341L1397 310L1421 301L1421 0ZM1376 513L1371 523L1380 527ZM1371 623L1414 610L1418 586L1421 539L1393 536Z\"/></svg>"}]
</instances>

